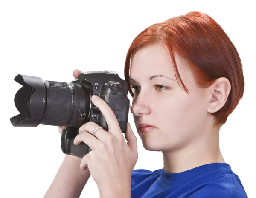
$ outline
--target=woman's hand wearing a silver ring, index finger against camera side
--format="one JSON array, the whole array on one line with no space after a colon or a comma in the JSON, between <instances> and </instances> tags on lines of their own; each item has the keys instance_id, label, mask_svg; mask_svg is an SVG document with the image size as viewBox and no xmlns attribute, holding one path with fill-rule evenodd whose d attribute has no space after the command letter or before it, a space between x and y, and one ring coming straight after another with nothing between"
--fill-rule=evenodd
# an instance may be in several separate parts
<instances>
[{"instance_id":1,"label":"woman's hand wearing a silver ring, index finger against camera side","mask_svg":"<svg viewBox=\"0 0 256 198\"><path fill-rule=\"evenodd\" d=\"M100 192L105 189L122 188L123 185L130 184L131 172L138 159L137 138L130 124L127 124L126 144L119 122L108 104L98 96L92 96L92 102L103 114L109 130L100 128L93 136L93 130L99 126L98 124L87 122L79 128L74 144L84 142L92 148L83 157L80 168L89 169Z\"/></svg>"}]
</instances>

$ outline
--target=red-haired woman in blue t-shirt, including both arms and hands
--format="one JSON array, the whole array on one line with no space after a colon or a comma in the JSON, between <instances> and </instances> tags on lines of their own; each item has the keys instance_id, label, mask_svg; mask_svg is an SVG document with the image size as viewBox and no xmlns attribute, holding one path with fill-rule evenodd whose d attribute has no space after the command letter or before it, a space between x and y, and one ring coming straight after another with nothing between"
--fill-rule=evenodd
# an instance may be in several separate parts
<instances>
[{"instance_id":1,"label":"red-haired woman in blue t-shirt, including both arms and hands","mask_svg":"<svg viewBox=\"0 0 256 198\"><path fill-rule=\"evenodd\" d=\"M133 170L137 142L129 124L126 144L108 105L92 98L110 130L96 133L91 122L80 128L74 144L94 149L82 160L66 156L46 196L78 197L92 175L101 197L247 197L219 148L219 130L243 96L244 77L235 46L215 20L195 11L146 28L128 50L125 80L143 147L163 153L163 169Z\"/></svg>"}]
</instances>

